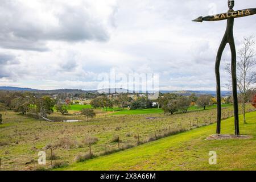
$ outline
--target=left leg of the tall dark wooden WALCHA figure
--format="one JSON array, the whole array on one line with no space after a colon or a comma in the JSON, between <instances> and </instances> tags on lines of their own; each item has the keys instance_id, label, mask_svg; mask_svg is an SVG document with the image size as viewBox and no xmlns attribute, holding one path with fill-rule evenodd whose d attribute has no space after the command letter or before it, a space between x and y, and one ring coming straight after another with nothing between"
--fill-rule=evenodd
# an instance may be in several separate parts
<instances>
[{"instance_id":1,"label":"left leg of the tall dark wooden WALCHA figure","mask_svg":"<svg viewBox=\"0 0 256 182\"><path fill-rule=\"evenodd\" d=\"M219 135L221 133L221 84L220 84L220 61L221 56L224 51L224 48L227 44L227 36L224 35L222 39L220 48L218 48L218 53L216 57L215 64L215 74L216 74L216 82L217 82L217 130L216 133Z\"/></svg>"}]
</instances>

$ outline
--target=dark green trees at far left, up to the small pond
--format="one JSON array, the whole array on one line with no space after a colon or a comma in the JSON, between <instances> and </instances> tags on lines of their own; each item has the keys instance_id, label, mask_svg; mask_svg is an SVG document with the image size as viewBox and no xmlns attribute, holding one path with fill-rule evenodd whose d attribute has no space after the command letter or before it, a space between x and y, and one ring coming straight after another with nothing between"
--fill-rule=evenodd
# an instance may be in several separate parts
<instances>
[{"instance_id":1,"label":"dark green trees at far left, up to the small pond","mask_svg":"<svg viewBox=\"0 0 256 182\"><path fill-rule=\"evenodd\" d=\"M62 102L60 99L51 96L42 96L32 92L0 92L0 111L14 110L17 113L31 115L32 117L47 118L52 114L54 109L61 114L68 114L71 101L66 99ZM92 109L82 109L81 114L85 115L86 120L96 116ZM0 114L0 124L2 115Z\"/></svg>"}]
</instances>

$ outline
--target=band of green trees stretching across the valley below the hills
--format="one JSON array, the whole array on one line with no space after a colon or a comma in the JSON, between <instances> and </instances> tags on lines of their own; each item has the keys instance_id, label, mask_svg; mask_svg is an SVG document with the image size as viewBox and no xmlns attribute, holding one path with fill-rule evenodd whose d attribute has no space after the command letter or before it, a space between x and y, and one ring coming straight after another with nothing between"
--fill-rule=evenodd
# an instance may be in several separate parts
<instances>
[{"instance_id":1,"label":"band of green trees stretching across the valley below the hills","mask_svg":"<svg viewBox=\"0 0 256 182\"><path fill-rule=\"evenodd\" d=\"M249 89L246 92L247 102L252 102L253 97L256 94L256 89ZM52 114L54 110L61 114L68 114L72 101L67 98L59 96L58 98L52 98L52 96L42 96L32 92L8 92L0 91L0 111L5 109L14 110L22 114L30 114L35 118L47 117ZM223 97L222 104L232 103L232 97ZM242 100L240 100L242 103ZM118 95L106 95L100 94L98 97L91 100L90 105L94 108L100 108L102 110L108 110L114 106L120 109L129 108L131 110L136 109L150 109L159 107L163 109L164 113L174 114L177 112L187 113L189 107L200 106L206 109L207 106L217 104L216 98L209 95L201 95L199 97L196 94L191 96L181 96L175 93L160 93L157 100L148 100L147 96L140 96L139 94L134 97L129 94ZM81 114L88 118L95 117L93 109L83 109Z\"/></svg>"}]
</instances>

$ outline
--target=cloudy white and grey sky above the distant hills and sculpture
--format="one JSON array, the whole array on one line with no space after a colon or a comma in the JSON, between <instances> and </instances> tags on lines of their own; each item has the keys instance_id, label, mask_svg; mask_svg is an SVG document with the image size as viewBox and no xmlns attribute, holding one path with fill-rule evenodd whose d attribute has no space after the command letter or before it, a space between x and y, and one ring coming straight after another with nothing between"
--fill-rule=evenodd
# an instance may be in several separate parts
<instances>
[{"instance_id":1,"label":"cloudy white and grey sky above the distant hills and sculpture","mask_svg":"<svg viewBox=\"0 0 256 182\"><path fill-rule=\"evenodd\" d=\"M0 0L0 86L96 89L97 76L159 73L160 89L214 90L227 0ZM235 10L256 7L236 0ZM235 20L237 49L256 15ZM230 61L226 48L222 70ZM222 85L228 75L222 71ZM225 88L224 88L225 89Z\"/></svg>"}]
</instances>

